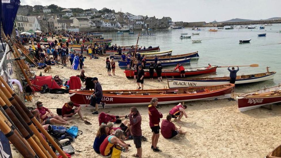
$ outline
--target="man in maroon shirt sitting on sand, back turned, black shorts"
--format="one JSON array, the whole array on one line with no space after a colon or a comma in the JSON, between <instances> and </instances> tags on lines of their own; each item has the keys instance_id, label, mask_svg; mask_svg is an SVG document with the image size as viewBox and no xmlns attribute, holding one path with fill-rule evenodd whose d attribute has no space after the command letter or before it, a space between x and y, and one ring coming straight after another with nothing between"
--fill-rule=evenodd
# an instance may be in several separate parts
<instances>
[{"instance_id":1,"label":"man in maroon shirt sitting on sand, back turned, black shorts","mask_svg":"<svg viewBox=\"0 0 281 158\"><path fill-rule=\"evenodd\" d=\"M176 136L177 134L186 134L181 130L181 126L177 128L174 123L171 122L172 115L167 115L166 120L162 120L161 123L161 134L164 138L170 139Z\"/></svg>"}]
</instances>

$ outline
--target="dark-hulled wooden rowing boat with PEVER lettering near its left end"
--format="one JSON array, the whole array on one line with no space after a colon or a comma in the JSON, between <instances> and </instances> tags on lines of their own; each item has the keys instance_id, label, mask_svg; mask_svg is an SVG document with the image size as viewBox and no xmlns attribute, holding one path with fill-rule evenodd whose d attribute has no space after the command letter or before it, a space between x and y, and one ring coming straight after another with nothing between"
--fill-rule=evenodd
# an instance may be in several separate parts
<instances>
[{"instance_id":1,"label":"dark-hulled wooden rowing boat with PEVER lettering near its left end","mask_svg":"<svg viewBox=\"0 0 281 158\"><path fill-rule=\"evenodd\" d=\"M187 53L187 54L180 54L180 55L174 55L174 56L161 56L161 55L156 55L158 58L158 61L162 60L172 60L172 59L183 59L183 58L191 58L191 59L198 59L199 55L198 52L193 52L193 53ZM111 55L109 58L113 58L114 60L121 60L121 56L119 55ZM146 56L146 61L147 62L154 62L154 56Z\"/></svg>"}]
</instances>

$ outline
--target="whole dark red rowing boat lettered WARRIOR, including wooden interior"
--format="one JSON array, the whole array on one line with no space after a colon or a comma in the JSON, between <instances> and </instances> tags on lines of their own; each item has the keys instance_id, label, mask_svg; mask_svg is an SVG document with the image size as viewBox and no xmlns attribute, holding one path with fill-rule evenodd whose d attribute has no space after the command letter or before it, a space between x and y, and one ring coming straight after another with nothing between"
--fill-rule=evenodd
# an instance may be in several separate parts
<instances>
[{"instance_id":1,"label":"whole dark red rowing boat lettered WARRIOR, including wooden interior","mask_svg":"<svg viewBox=\"0 0 281 158\"><path fill-rule=\"evenodd\" d=\"M105 90L102 102L106 106L148 105L152 98L158 98L158 104L178 103L183 101L213 100L230 98L234 84L207 87L188 87L153 90ZM76 104L89 105L93 91L69 91L70 100Z\"/></svg>"}]
</instances>

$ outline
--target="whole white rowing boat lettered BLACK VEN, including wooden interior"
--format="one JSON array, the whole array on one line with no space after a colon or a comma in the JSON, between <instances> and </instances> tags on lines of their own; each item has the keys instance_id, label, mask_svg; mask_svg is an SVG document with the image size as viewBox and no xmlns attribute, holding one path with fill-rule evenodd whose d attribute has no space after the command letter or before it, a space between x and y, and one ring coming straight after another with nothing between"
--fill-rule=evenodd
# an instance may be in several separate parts
<instances>
[{"instance_id":1,"label":"whole white rowing boat lettered BLACK VEN, including wooden interior","mask_svg":"<svg viewBox=\"0 0 281 158\"><path fill-rule=\"evenodd\" d=\"M276 72L241 75L236 77L235 85L261 82L273 79ZM201 87L230 83L230 77L205 77L191 79L167 79L169 88Z\"/></svg>"}]
</instances>

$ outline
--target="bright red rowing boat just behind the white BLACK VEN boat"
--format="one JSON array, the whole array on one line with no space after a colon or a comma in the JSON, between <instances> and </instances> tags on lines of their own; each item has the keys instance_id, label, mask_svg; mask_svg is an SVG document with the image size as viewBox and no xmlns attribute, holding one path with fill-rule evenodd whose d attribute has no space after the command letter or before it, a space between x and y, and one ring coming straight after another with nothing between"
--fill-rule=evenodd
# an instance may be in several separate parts
<instances>
[{"instance_id":1,"label":"bright red rowing boat just behind the white BLACK VEN boat","mask_svg":"<svg viewBox=\"0 0 281 158\"><path fill-rule=\"evenodd\" d=\"M145 71L145 77L149 78L149 70L144 70ZM194 75L201 75L201 74L206 74L206 73L214 73L217 71L217 66L213 66L211 68L206 68L206 67L200 67L200 68L185 68L185 76L194 76ZM125 69L124 71L126 77L129 78L134 78L134 70L131 69ZM181 76L179 71L174 71L174 69L162 69L161 73L162 77L179 77ZM153 73L153 78L157 78L157 73L154 71Z\"/></svg>"}]
</instances>

